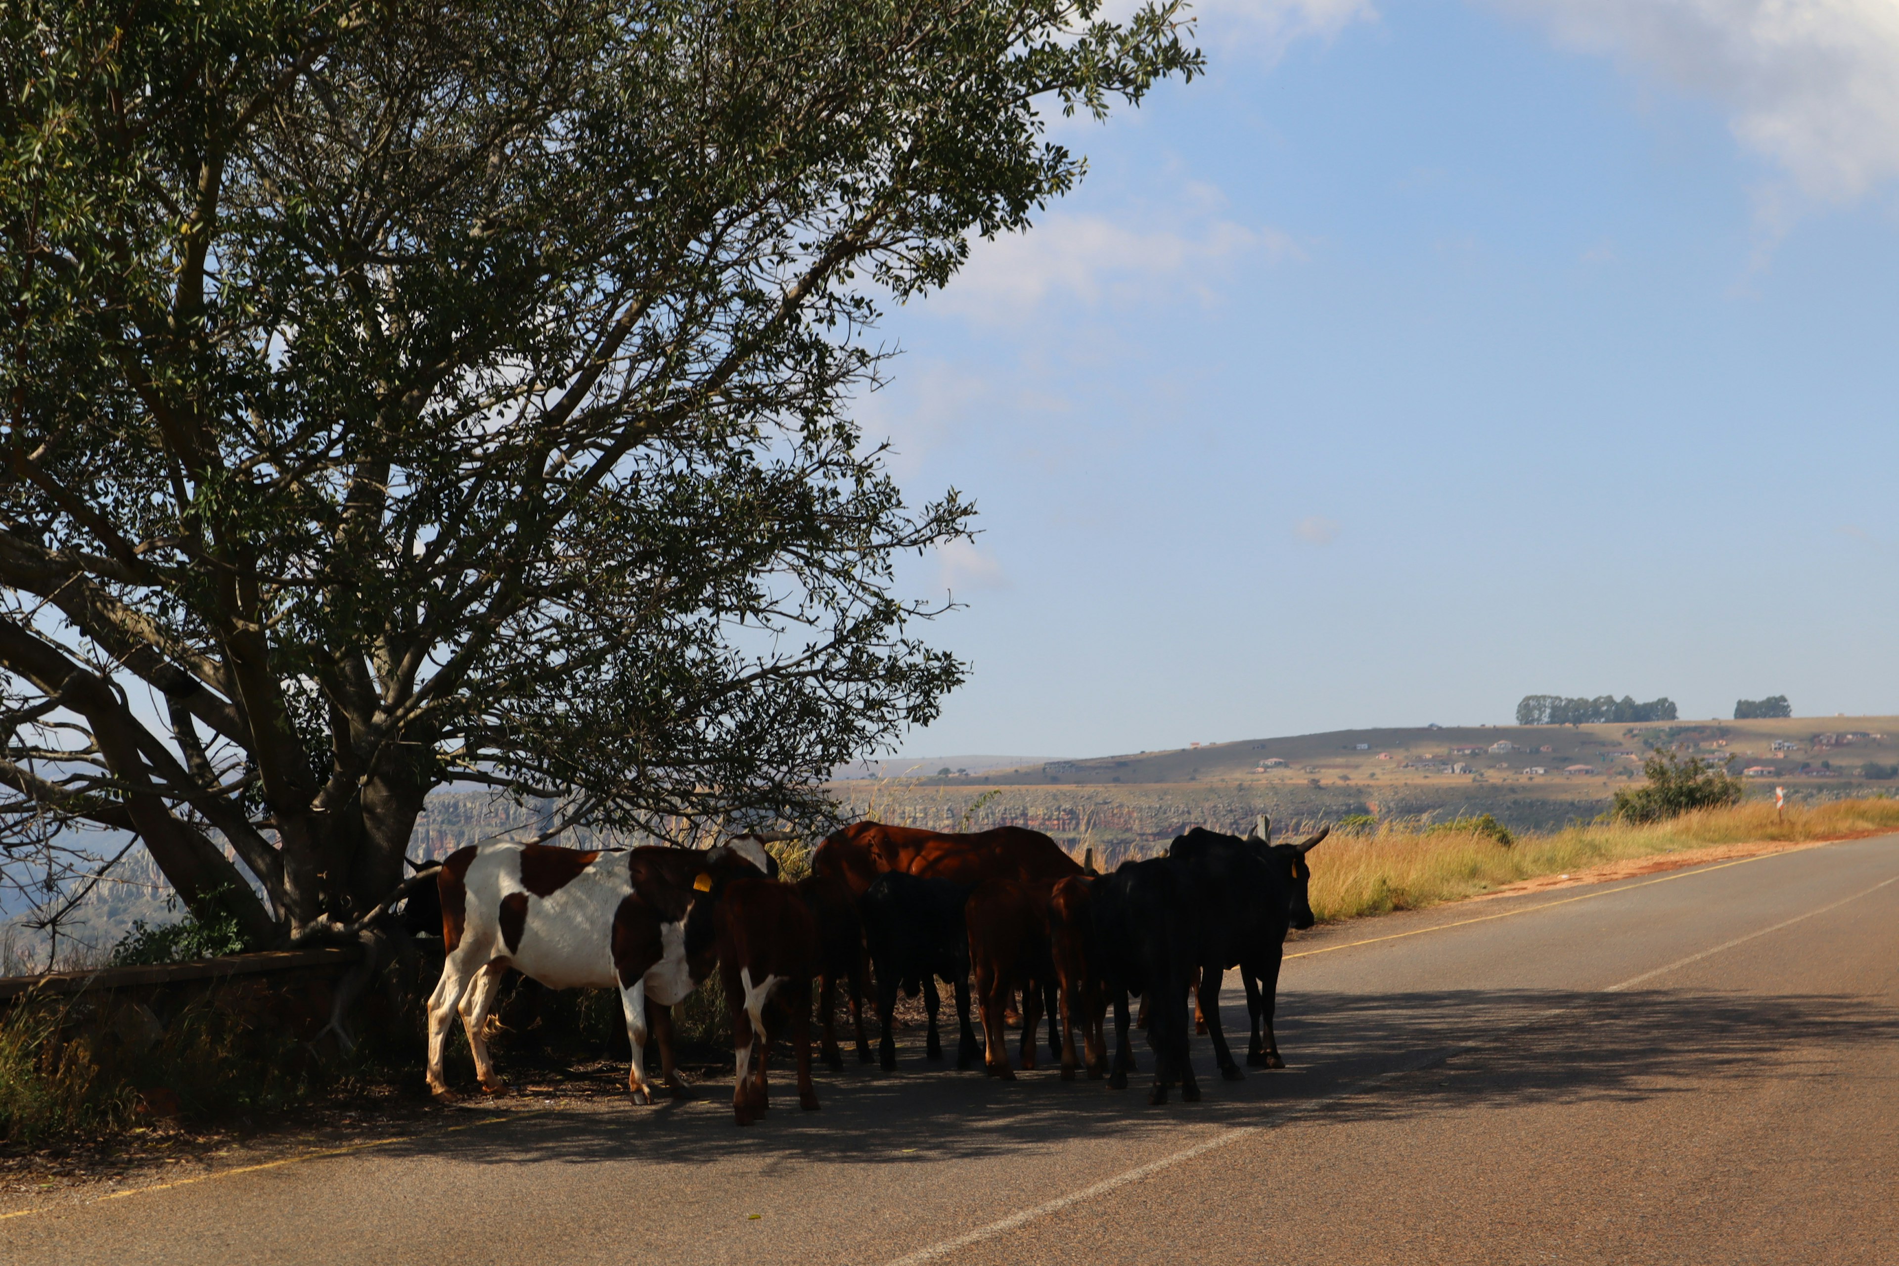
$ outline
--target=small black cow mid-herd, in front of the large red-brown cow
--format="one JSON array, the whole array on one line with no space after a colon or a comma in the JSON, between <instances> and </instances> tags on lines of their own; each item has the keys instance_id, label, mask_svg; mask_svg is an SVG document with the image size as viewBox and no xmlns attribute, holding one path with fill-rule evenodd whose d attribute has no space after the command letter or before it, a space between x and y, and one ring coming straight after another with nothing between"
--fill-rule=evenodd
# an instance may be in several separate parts
<instances>
[{"instance_id":1,"label":"small black cow mid-herd, in front of the large red-brown cow","mask_svg":"<svg viewBox=\"0 0 1899 1266\"><path fill-rule=\"evenodd\" d=\"M936 977L955 985L955 1014L961 1025L955 1067L970 1069L982 1059L976 1031L968 1023L968 926L963 905L972 884L948 879L917 879L900 871L877 875L858 911L864 919L864 941L870 945L870 964L877 976L877 1044L885 1071L896 1067L896 1042L891 1038L891 1014L896 1010L896 991L906 998L923 989L923 1008L931 1029L925 1053L942 1059L944 1048L936 1034Z\"/></svg>"}]
</instances>

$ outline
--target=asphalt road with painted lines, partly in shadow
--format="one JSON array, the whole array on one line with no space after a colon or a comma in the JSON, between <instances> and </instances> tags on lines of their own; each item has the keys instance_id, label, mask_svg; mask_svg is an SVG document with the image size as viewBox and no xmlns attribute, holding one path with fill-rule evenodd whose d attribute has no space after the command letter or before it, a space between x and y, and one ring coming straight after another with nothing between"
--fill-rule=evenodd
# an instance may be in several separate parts
<instances>
[{"instance_id":1,"label":"asphalt road with painted lines, partly in shadow","mask_svg":"<svg viewBox=\"0 0 1899 1266\"><path fill-rule=\"evenodd\" d=\"M1289 949L1291 1067L1221 1082L1198 1042L1198 1105L906 1050L752 1129L725 1088L471 1108L9 1219L0 1260L1899 1262L1899 837Z\"/></svg>"}]
</instances>

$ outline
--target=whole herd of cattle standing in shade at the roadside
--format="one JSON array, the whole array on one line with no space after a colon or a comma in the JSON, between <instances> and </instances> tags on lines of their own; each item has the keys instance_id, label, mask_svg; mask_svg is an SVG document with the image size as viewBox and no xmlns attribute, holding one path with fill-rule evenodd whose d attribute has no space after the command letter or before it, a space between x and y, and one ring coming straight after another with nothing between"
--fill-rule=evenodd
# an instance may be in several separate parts
<instances>
[{"instance_id":1,"label":"whole herd of cattle standing in shade at the roadside","mask_svg":"<svg viewBox=\"0 0 1899 1266\"><path fill-rule=\"evenodd\" d=\"M733 1112L741 1126L767 1107L765 1052L769 1036L780 1033L798 1055L799 1103L818 1107L809 1042L813 979L820 981L822 1057L834 1069L843 1065L834 1029L839 985L856 1027L856 1055L868 1063L864 998L875 981L879 1057L894 1069L898 991L923 991L927 1055L942 1057L936 979L944 979L955 993L959 1069L980 1053L991 1076L1014 1078L1005 1012L1020 995L1022 1067L1035 1067L1046 1008L1048 1048L1062 1076L1086 1069L1117 1089L1136 1067L1128 998L1139 995L1155 1052L1149 1103L1166 1103L1170 1086L1193 1101L1200 1097L1187 1055L1193 991L1221 1074L1244 1076L1219 1023L1221 977L1231 968L1240 968L1251 1015L1246 1061L1284 1067L1272 1038L1280 957L1288 928L1312 926L1307 852L1324 837L1274 845L1267 818L1244 839L1194 828L1164 856L1098 875L1039 831L942 833L860 822L826 837L811 854L811 875L798 883L779 881L765 848L771 837L761 835L708 850L461 848L437 871L446 960L429 998L429 1088L450 1093L442 1053L456 1014L482 1086L503 1088L484 1029L501 977L515 968L553 989L619 991L634 1101L653 1101L644 1069L649 1034L659 1042L668 1089L682 1095L670 1006L718 970L731 1004ZM982 1042L970 1027L970 981Z\"/></svg>"}]
</instances>

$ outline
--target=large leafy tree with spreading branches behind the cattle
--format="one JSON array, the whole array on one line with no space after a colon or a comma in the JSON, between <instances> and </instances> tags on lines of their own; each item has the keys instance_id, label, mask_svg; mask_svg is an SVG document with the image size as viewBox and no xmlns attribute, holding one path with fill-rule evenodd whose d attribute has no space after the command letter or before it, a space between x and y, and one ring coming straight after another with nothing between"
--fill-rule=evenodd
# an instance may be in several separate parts
<instances>
[{"instance_id":1,"label":"large leafy tree with spreading branches behind the cattle","mask_svg":"<svg viewBox=\"0 0 1899 1266\"><path fill-rule=\"evenodd\" d=\"M1073 186L1041 110L1200 66L1096 8L0 0L15 835L270 943L444 780L820 814L963 676L891 562L970 507L849 418L879 296Z\"/></svg>"}]
</instances>

